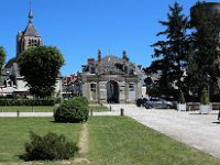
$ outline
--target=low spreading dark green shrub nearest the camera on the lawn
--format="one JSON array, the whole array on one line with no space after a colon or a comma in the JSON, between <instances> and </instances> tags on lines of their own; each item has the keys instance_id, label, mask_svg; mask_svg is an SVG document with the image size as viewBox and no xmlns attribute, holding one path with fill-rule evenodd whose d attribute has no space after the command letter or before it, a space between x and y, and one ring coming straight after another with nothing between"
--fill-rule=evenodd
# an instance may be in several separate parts
<instances>
[{"instance_id":1,"label":"low spreading dark green shrub nearest the camera on the lawn","mask_svg":"<svg viewBox=\"0 0 220 165\"><path fill-rule=\"evenodd\" d=\"M25 153L22 155L25 161L68 160L79 150L76 143L66 142L64 135L52 132L44 136L31 132L30 139L31 142L25 143Z\"/></svg>"}]
</instances>

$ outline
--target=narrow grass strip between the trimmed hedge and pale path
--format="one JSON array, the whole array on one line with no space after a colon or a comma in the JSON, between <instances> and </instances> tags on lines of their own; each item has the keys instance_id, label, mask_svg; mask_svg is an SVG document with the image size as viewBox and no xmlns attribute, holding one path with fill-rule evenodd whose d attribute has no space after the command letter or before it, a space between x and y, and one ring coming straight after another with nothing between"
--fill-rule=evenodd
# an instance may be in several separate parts
<instances>
[{"instance_id":1,"label":"narrow grass strip between the trimmed hedge and pale path","mask_svg":"<svg viewBox=\"0 0 220 165\"><path fill-rule=\"evenodd\" d=\"M0 112L53 112L57 106L1 106Z\"/></svg>"}]
</instances>

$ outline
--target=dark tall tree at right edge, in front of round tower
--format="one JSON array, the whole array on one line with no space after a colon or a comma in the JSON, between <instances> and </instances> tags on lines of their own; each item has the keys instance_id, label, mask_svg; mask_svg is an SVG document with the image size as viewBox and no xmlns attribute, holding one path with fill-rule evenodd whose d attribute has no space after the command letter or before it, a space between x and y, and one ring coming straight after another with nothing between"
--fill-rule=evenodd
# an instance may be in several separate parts
<instances>
[{"instance_id":1,"label":"dark tall tree at right edge, in front of round tower","mask_svg":"<svg viewBox=\"0 0 220 165\"><path fill-rule=\"evenodd\" d=\"M191 10L191 40L194 54L189 58L188 79L196 94L208 88L211 95L219 92L220 78L220 14L207 13L205 2Z\"/></svg>"}]
</instances>

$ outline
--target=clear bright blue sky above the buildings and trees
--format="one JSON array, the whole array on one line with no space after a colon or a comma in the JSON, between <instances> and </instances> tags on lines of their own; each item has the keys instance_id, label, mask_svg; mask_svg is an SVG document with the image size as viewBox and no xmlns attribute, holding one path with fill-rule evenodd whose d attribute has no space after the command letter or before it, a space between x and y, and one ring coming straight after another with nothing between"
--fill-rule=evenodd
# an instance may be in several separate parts
<instances>
[{"instance_id":1,"label":"clear bright blue sky above the buildings and trees","mask_svg":"<svg viewBox=\"0 0 220 165\"><path fill-rule=\"evenodd\" d=\"M219 2L220 0L212 0ZM28 24L30 0L1 0L0 45L7 59L15 56L15 36ZM34 25L44 45L56 46L64 55L62 75L81 70L88 57L122 56L146 67L153 61L150 46L164 30L168 4L175 0L32 0ZM189 15L197 0L177 0ZM210 2L207 0L207 2Z\"/></svg>"}]
</instances>

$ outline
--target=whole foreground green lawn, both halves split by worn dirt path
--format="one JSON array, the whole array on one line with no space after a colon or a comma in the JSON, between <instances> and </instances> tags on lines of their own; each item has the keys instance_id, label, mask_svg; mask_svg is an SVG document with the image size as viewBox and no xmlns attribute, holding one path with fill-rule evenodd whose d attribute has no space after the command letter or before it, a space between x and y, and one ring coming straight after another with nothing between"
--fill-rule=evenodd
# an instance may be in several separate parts
<instances>
[{"instance_id":1,"label":"whole foreground green lawn, both halves split by worn dirt path","mask_svg":"<svg viewBox=\"0 0 220 165\"><path fill-rule=\"evenodd\" d=\"M78 142L81 124L54 123L52 118L0 118L0 164L20 162L29 131L64 134ZM92 117L89 151L77 157L94 165L219 165L220 160L194 150L127 117ZM61 162L48 162L54 165Z\"/></svg>"}]
</instances>

